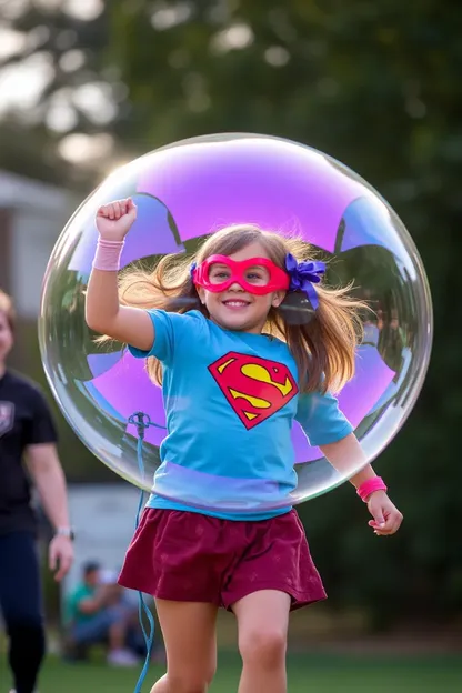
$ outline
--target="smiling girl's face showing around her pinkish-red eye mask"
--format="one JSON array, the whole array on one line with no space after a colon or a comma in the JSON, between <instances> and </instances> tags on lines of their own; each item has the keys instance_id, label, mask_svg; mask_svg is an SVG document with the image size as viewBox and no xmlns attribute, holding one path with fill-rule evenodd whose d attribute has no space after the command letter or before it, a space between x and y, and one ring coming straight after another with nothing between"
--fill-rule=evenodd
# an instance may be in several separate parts
<instances>
[{"instance_id":1,"label":"smiling girl's face showing around her pinkish-red eye mask","mask_svg":"<svg viewBox=\"0 0 462 693\"><path fill-rule=\"evenodd\" d=\"M242 262L251 258L271 259L264 247L259 242L251 243L230 255L230 259L235 262ZM227 272L229 272L229 268L227 265L221 268L217 264L213 267L213 272L218 282L223 281ZM252 267L247 270L247 277L250 282L258 283L264 281L264 272L268 272L265 268L255 265L255 268ZM211 279L213 280L213 277ZM285 295L284 291L273 291L272 293L257 295L243 289L238 282L232 283L225 291L220 293L198 287L198 293L213 322L225 330L252 332L254 334L260 334L267 322L270 309L280 305Z\"/></svg>"}]
</instances>

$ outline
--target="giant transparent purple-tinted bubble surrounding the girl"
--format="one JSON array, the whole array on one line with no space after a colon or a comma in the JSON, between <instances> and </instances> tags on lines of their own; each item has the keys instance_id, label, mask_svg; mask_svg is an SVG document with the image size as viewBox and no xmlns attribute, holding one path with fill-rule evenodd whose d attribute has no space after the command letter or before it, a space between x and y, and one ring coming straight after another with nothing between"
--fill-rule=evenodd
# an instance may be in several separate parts
<instances>
[{"instance_id":1,"label":"giant transparent purple-tinted bubble surrounding the girl","mask_svg":"<svg viewBox=\"0 0 462 693\"><path fill-rule=\"evenodd\" d=\"M327 282L354 282L370 302L354 379L339 393L368 461L394 438L411 412L429 363L431 299L409 233L386 202L359 175L319 151L288 140L222 134L178 142L113 172L77 210L59 238L44 277L39 320L41 354L54 396L86 445L117 474L195 506L261 509L238 483L214 478L198 498L158 488L159 445L165 436L161 390L141 360L121 344L96 343L84 321L84 291L97 244L100 204L131 195L139 209L122 267L154 263L164 253L193 252L201 239L231 223L297 232L328 260ZM190 402L194 406L194 401ZM133 414L143 412L142 463ZM298 484L265 506L300 503L340 484L343 475L299 424L292 431ZM258 451L254 451L258 455ZM231 475L231 473L230 473ZM237 481L235 479L233 480Z\"/></svg>"}]
</instances>

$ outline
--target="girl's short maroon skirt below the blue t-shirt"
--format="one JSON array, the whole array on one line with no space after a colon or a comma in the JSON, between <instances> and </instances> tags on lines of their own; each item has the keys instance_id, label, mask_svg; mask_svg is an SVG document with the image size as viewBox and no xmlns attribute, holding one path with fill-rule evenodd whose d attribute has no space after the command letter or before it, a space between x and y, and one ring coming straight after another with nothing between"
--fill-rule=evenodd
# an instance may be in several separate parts
<instances>
[{"instance_id":1,"label":"girl's short maroon skirt below the blue t-shirt","mask_svg":"<svg viewBox=\"0 0 462 693\"><path fill-rule=\"evenodd\" d=\"M292 597L292 610L327 599L294 510L270 520L220 520L147 509L119 584L154 597L230 609L259 590Z\"/></svg>"}]
</instances>

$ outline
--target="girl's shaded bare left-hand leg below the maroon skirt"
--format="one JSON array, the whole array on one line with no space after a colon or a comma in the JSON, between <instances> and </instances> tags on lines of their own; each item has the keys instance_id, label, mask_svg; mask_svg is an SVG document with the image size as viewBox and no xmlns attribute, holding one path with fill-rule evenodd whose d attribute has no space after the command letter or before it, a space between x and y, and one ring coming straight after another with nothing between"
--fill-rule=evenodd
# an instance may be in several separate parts
<instances>
[{"instance_id":1,"label":"girl's shaded bare left-hand leg below the maroon skirt","mask_svg":"<svg viewBox=\"0 0 462 693\"><path fill-rule=\"evenodd\" d=\"M217 669L218 607L168 600L155 600L155 607L165 643L167 674L151 693L205 693Z\"/></svg>"}]
</instances>

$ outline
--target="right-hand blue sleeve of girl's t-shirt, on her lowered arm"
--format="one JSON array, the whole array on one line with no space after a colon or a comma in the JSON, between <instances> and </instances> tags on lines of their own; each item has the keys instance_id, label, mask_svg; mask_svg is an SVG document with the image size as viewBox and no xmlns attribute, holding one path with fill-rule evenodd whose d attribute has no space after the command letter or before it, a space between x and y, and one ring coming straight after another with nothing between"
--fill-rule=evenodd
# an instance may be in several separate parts
<instances>
[{"instance_id":1,"label":"right-hand blue sleeve of girl's t-shirt, on her lowered arm","mask_svg":"<svg viewBox=\"0 0 462 693\"><path fill-rule=\"evenodd\" d=\"M337 398L329 392L301 394L295 420L302 426L312 446L337 443L354 430L340 411Z\"/></svg>"}]
</instances>

